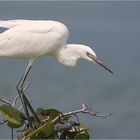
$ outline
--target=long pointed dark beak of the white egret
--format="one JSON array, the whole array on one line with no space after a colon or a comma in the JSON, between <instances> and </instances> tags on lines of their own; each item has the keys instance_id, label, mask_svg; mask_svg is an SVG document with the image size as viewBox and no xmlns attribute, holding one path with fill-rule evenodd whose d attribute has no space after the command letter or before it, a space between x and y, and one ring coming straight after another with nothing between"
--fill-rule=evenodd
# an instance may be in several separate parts
<instances>
[{"instance_id":1,"label":"long pointed dark beak of the white egret","mask_svg":"<svg viewBox=\"0 0 140 140\"><path fill-rule=\"evenodd\" d=\"M105 70L109 71L110 73L113 74L113 71L110 70L106 65L104 65L100 60L98 60L95 56L93 56L90 53L87 53L87 56L90 57L96 64L100 65L102 68L104 68Z\"/></svg>"}]
</instances>

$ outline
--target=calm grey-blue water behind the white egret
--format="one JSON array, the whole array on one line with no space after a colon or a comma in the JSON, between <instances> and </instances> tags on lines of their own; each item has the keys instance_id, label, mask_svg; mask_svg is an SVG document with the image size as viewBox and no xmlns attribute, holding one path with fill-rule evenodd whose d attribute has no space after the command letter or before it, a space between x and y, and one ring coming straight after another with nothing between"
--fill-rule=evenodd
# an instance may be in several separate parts
<instances>
[{"instance_id":1,"label":"calm grey-blue water behind the white egret","mask_svg":"<svg viewBox=\"0 0 140 140\"><path fill-rule=\"evenodd\" d=\"M27 96L33 106L63 112L80 108L113 112L80 115L92 138L140 138L140 2L0 2L0 19L52 19L70 29L69 43L91 46L114 74L84 60L74 69L52 58L34 65ZM2 29L1 29L2 32ZM25 61L0 60L0 97L13 99ZM10 138L6 125L0 138Z\"/></svg>"}]
</instances>

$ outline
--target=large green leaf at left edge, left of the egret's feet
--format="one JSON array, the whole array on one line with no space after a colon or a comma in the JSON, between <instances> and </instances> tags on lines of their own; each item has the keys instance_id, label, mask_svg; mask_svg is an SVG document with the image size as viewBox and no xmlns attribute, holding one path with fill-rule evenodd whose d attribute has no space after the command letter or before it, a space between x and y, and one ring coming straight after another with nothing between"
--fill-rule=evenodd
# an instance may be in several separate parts
<instances>
[{"instance_id":1,"label":"large green leaf at left edge, left of the egret's feet","mask_svg":"<svg viewBox=\"0 0 140 140\"><path fill-rule=\"evenodd\" d=\"M24 124L25 115L16 108L3 104L0 106L0 114L8 121L7 125L11 128L18 128Z\"/></svg>"}]
</instances>

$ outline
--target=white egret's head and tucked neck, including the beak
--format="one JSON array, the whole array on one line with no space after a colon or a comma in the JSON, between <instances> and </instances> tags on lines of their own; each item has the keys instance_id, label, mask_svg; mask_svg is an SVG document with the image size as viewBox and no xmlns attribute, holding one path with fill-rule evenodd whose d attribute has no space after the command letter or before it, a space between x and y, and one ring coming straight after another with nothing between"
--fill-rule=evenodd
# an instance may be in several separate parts
<instances>
[{"instance_id":1,"label":"white egret's head and tucked neck, including the beak","mask_svg":"<svg viewBox=\"0 0 140 140\"><path fill-rule=\"evenodd\" d=\"M95 52L86 45L67 44L65 47L62 47L57 54L58 61L70 67L74 67L77 60L80 58L96 63L110 73L113 73L107 66L97 59Z\"/></svg>"}]
</instances>

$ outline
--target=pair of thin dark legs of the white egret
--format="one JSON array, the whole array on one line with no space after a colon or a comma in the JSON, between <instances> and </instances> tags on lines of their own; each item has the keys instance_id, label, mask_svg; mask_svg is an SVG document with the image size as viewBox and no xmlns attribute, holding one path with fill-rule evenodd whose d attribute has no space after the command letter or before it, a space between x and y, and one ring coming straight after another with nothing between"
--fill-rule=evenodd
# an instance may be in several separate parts
<instances>
[{"instance_id":1,"label":"pair of thin dark legs of the white egret","mask_svg":"<svg viewBox=\"0 0 140 140\"><path fill-rule=\"evenodd\" d=\"M34 112L34 110L33 110L32 106L31 106L31 104L29 103L28 99L27 99L26 96L24 95L24 89L23 89L23 88L24 88L25 80L26 80L26 78L27 78L27 75L28 75L28 73L29 73L31 67L32 67L33 62L34 62L34 60L30 60L30 61L28 62L28 65L27 65L27 67L26 67L26 70L25 70L23 76L21 77L21 79L20 79L20 81L19 81L19 83L18 83L18 85L17 85L17 91L18 91L18 94L19 94L19 96L20 96L20 99L21 99L21 102L22 102L24 111L25 111L25 113L26 113L26 115L27 115L27 119L28 119L28 121L29 121L29 127L30 127L31 129L33 129L33 127L32 127L32 123L31 123L31 121L30 121L30 114L29 114L28 108L29 108L30 111L33 113L33 115L34 115L36 121L37 121L38 123L40 123L40 121L39 121L39 119L38 119L36 113ZM27 106L28 106L28 108L27 108Z\"/></svg>"}]
</instances>

